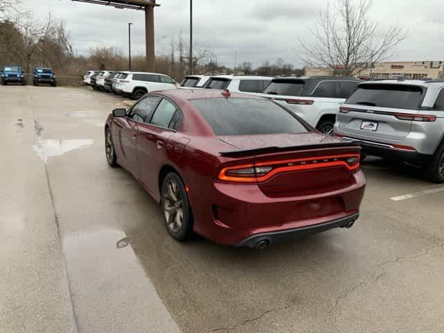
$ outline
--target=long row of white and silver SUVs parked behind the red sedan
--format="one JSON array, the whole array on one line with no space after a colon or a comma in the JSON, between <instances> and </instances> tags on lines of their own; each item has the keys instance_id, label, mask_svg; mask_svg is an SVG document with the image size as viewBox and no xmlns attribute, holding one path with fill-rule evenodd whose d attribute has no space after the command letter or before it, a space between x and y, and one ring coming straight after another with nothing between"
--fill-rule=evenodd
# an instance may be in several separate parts
<instances>
[{"instance_id":1,"label":"long row of white and silver SUVs parked behind the red sedan","mask_svg":"<svg viewBox=\"0 0 444 333\"><path fill-rule=\"evenodd\" d=\"M94 73L85 74L85 83L133 99L176 88L263 96L324 134L358 140L362 158L408 162L444 182L444 80L191 75L179 85L163 74Z\"/></svg>"}]
</instances>

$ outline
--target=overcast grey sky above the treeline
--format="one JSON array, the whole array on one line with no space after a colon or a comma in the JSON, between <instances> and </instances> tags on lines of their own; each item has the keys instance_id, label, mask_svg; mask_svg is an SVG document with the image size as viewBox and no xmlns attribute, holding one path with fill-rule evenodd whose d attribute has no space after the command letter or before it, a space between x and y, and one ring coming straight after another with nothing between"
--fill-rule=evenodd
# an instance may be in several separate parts
<instances>
[{"instance_id":1,"label":"overcast grey sky above the treeline","mask_svg":"<svg viewBox=\"0 0 444 333\"><path fill-rule=\"evenodd\" d=\"M335 3L335 0L331 0ZM128 53L128 22L133 22L133 51L144 54L144 13L71 0L32 0L35 16L66 22L71 42L79 54L89 47L117 46ZM156 54L171 53L171 39L182 31L189 34L189 0L157 0L155 8ZM265 60L284 58L296 67L299 38L309 41L325 0L194 0L194 40L211 49L219 62L237 61L261 65ZM399 23L410 34L397 49L394 60L444 60L443 0L374 0L370 17L380 28Z\"/></svg>"}]
</instances>

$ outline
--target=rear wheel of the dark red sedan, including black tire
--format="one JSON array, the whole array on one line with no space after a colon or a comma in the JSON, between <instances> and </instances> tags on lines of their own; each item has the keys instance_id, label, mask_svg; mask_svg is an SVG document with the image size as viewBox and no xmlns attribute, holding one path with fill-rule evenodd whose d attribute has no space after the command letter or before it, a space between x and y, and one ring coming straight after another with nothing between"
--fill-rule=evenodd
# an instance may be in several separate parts
<instances>
[{"instance_id":1,"label":"rear wheel of the dark red sedan, including black tire","mask_svg":"<svg viewBox=\"0 0 444 333\"><path fill-rule=\"evenodd\" d=\"M177 241L186 241L193 233L193 214L185 185L177 173L168 173L164 178L160 196L168 233Z\"/></svg>"}]
</instances>

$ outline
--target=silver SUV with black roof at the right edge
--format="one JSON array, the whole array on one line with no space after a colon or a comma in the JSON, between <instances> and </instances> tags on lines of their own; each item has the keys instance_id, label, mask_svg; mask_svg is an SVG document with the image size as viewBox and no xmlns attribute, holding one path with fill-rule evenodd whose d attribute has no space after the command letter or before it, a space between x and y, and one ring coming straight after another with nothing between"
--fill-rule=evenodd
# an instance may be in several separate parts
<instances>
[{"instance_id":1,"label":"silver SUV with black roof at the right edge","mask_svg":"<svg viewBox=\"0 0 444 333\"><path fill-rule=\"evenodd\" d=\"M444 80L361 83L341 106L334 133L361 141L364 154L416 164L444 182Z\"/></svg>"}]
</instances>

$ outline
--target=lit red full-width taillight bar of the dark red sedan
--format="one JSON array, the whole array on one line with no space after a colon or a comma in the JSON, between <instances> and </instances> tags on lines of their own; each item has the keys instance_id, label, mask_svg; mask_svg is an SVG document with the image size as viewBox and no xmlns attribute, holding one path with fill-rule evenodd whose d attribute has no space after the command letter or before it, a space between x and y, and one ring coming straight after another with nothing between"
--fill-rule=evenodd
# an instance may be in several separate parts
<instances>
[{"instance_id":1,"label":"lit red full-width taillight bar of the dark red sedan","mask_svg":"<svg viewBox=\"0 0 444 333\"><path fill-rule=\"evenodd\" d=\"M359 160L359 155L349 154L259 162L223 168L218 178L226 182L256 183L265 182L278 173L298 170L343 166L356 171L359 169Z\"/></svg>"}]
</instances>

